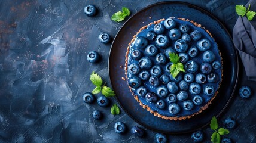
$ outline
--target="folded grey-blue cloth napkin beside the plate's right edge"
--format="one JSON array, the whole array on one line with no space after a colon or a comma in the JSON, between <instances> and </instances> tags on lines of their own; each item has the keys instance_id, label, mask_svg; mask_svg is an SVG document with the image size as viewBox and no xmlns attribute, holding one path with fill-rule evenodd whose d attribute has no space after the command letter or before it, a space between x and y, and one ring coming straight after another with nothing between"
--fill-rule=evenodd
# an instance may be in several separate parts
<instances>
[{"instance_id":1,"label":"folded grey-blue cloth napkin beside the plate's right edge","mask_svg":"<svg viewBox=\"0 0 256 143\"><path fill-rule=\"evenodd\" d=\"M246 4L250 11L256 11L256 0ZM256 17L249 21L246 16L237 19L233 29L234 46L239 52L246 76L249 80L256 81Z\"/></svg>"}]
</instances>

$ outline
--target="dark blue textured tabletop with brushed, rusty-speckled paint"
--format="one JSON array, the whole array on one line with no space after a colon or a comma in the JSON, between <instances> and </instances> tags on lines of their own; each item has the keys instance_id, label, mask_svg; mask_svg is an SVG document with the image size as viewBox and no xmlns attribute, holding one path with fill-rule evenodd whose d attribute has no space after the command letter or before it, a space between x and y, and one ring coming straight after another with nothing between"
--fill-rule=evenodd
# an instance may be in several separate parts
<instances>
[{"instance_id":1,"label":"dark blue textured tabletop with brushed, rusty-speckled paint","mask_svg":"<svg viewBox=\"0 0 256 143\"><path fill-rule=\"evenodd\" d=\"M118 135L113 129L115 122L126 123L128 130L138 123L123 110L113 116L110 106L83 104L81 97L95 88L89 81L92 71L110 85L111 43L103 45L97 36L107 32L114 38L127 20L116 23L111 21L111 15L123 6L134 15L155 2L160 1L0 1L0 142L153 142L156 132L146 128L143 138L134 137L129 131ZM235 5L245 5L247 1L185 2L214 14L231 32L237 19ZM98 8L96 17L83 13L89 4ZM100 63L86 60L92 50L101 55ZM220 124L227 116L237 120L237 128L225 137L236 142L256 142L256 84L248 81L243 66L240 69L238 87L251 86L253 94L242 100L237 89L218 120ZM111 105L114 103L117 101L111 98ZM102 120L93 120L92 111L96 109L102 111ZM210 142L211 129L207 126L202 130L204 141ZM191 142L190 135L167 138L169 142Z\"/></svg>"}]
</instances>

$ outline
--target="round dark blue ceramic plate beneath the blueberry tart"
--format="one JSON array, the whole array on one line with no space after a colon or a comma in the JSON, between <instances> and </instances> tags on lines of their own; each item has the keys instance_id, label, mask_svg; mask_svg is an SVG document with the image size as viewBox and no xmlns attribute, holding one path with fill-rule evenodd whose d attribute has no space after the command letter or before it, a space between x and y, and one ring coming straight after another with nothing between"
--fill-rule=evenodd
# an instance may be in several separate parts
<instances>
[{"instance_id":1,"label":"round dark blue ceramic plate beneath the blueberry tart","mask_svg":"<svg viewBox=\"0 0 256 143\"><path fill-rule=\"evenodd\" d=\"M150 18L151 17L151 18ZM124 63L127 46L132 36L139 28L153 21L168 17L182 17L194 20L208 29L223 57L223 82L219 88L216 99L203 113L182 121L164 120L153 116L149 111L144 110L133 98L129 91L125 77ZM123 66L121 68L120 66ZM109 77L112 88L115 91L117 101L123 110L136 122L145 128L162 133L185 133L203 128L208 125L212 116L219 116L234 94L238 76L238 58L233 42L227 30L212 14L184 2L160 2L150 5L124 23L123 27L115 36L109 54Z\"/></svg>"}]
</instances>

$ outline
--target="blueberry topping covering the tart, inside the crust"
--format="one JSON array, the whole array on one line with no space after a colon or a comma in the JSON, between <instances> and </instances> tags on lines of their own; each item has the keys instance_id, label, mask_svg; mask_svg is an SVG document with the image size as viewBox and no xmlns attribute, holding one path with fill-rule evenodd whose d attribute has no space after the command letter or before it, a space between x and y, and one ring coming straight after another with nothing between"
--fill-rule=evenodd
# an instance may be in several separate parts
<instances>
[{"instance_id":1,"label":"blueberry topping covering the tart, inside the crust","mask_svg":"<svg viewBox=\"0 0 256 143\"><path fill-rule=\"evenodd\" d=\"M221 78L214 42L188 23L168 18L153 24L136 36L129 52L128 84L133 92L173 115L206 104ZM175 78L170 74L170 52L179 55L185 69Z\"/></svg>"}]
</instances>

